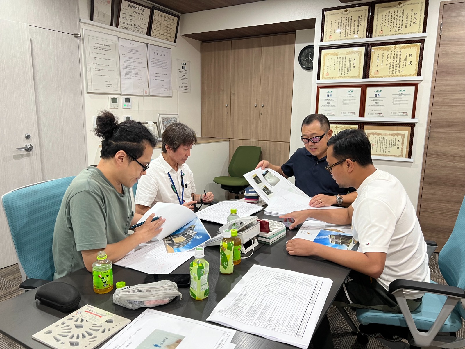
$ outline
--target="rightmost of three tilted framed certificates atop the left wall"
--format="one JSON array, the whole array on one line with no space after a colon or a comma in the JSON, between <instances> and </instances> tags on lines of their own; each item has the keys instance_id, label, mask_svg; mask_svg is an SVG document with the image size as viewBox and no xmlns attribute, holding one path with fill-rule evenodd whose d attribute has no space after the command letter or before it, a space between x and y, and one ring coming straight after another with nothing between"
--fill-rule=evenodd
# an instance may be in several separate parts
<instances>
[{"instance_id":1,"label":"rightmost of three tilted framed certificates atop the left wall","mask_svg":"<svg viewBox=\"0 0 465 349\"><path fill-rule=\"evenodd\" d=\"M180 16L159 7L152 7L149 35L166 41L176 42Z\"/></svg>"}]
</instances>

